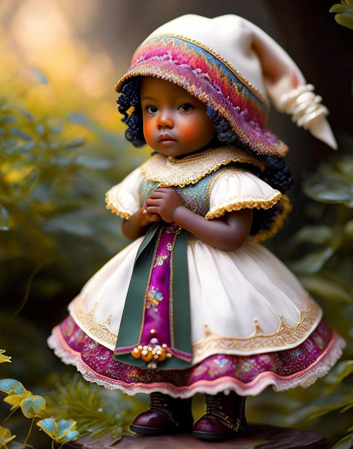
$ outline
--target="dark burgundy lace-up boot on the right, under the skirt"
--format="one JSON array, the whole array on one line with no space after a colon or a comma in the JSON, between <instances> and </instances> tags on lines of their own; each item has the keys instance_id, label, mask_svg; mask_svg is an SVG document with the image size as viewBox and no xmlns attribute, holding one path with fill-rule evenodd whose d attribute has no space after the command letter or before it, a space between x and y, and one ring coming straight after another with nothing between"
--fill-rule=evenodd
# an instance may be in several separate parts
<instances>
[{"instance_id":1,"label":"dark burgundy lace-up boot on the right, under the skirt","mask_svg":"<svg viewBox=\"0 0 353 449\"><path fill-rule=\"evenodd\" d=\"M243 436L248 431L245 396L206 394L206 413L194 425L192 435L206 440L223 440Z\"/></svg>"}]
</instances>

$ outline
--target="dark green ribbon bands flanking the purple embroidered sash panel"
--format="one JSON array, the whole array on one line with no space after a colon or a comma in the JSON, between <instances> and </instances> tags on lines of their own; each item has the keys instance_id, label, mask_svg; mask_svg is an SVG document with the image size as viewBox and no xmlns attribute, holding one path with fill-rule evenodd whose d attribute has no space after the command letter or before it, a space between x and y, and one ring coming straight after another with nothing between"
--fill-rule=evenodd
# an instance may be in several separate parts
<instances>
[{"instance_id":1,"label":"dark green ribbon bands flanking the purple embroidered sash panel","mask_svg":"<svg viewBox=\"0 0 353 449\"><path fill-rule=\"evenodd\" d=\"M147 362L141 358L134 358L131 355L131 348L139 344L138 338L143 318L144 296L153 262L153 250L158 233L164 224L163 221L152 224L138 248L115 346L115 349L129 349L125 353L116 351L113 353L114 360L141 368L146 368ZM190 292L187 263L189 236L190 233L182 229L174 242L172 273L170 273L170 276L172 276L173 322L169 323L169 325L174 335L173 348L191 354ZM169 298L170 300L171 298ZM173 356L158 362L156 369L180 369L190 366L191 361Z\"/></svg>"}]
</instances>

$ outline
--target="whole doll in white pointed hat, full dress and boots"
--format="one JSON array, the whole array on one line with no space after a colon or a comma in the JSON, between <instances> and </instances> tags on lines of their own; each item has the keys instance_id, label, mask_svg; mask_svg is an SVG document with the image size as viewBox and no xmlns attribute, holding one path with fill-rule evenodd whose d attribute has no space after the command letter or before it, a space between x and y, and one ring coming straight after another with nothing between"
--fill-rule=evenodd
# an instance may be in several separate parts
<instances>
[{"instance_id":1,"label":"whole doll in white pointed hat, full dress and boots","mask_svg":"<svg viewBox=\"0 0 353 449\"><path fill-rule=\"evenodd\" d=\"M247 432L245 397L309 386L343 339L259 242L290 209L286 145L267 95L335 145L313 86L237 16L183 16L136 50L116 90L126 138L154 154L106 195L133 240L84 286L48 344L89 381L150 394L130 428L220 440ZM205 393L195 424L191 399Z\"/></svg>"}]
</instances>

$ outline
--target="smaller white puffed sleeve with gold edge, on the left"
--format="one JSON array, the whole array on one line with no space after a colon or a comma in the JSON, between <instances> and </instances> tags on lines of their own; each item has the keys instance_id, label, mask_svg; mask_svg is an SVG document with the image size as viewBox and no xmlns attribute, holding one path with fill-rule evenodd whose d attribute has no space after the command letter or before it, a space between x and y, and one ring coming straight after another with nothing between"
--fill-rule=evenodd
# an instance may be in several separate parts
<instances>
[{"instance_id":1,"label":"smaller white puffed sleeve with gold edge, on the left","mask_svg":"<svg viewBox=\"0 0 353 449\"><path fill-rule=\"evenodd\" d=\"M140 208L140 185L143 175L139 168L133 170L119 184L105 194L107 209L122 218L129 218Z\"/></svg>"}]
</instances>

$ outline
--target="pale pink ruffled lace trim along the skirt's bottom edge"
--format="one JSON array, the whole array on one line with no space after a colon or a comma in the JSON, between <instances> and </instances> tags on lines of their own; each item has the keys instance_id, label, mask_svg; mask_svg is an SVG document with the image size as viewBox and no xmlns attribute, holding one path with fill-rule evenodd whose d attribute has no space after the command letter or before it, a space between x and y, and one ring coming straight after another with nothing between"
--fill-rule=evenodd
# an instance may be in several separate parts
<instances>
[{"instance_id":1,"label":"pale pink ruffled lace trim along the skirt's bottom edge","mask_svg":"<svg viewBox=\"0 0 353 449\"><path fill-rule=\"evenodd\" d=\"M54 349L55 354L60 357L64 363L76 365L77 370L82 374L82 377L85 380L102 385L107 389L119 389L128 395L134 395L136 393L149 394L154 391L159 391L163 394L183 399L191 397L195 393L217 394L227 390L234 390L240 396L256 396L269 385L272 385L273 390L277 392L285 391L299 385L303 388L307 388L313 384L317 378L327 374L341 356L342 349L345 347L345 341L334 332L321 356L306 369L291 376L284 377L266 371L259 374L254 380L248 383L225 376L212 381L201 380L188 387L176 387L172 384L161 382L150 384L136 382L134 384L126 384L122 381L100 375L84 363L80 353L73 351L62 338L59 338L58 335L56 335L56 332L60 332L60 330L57 328L53 330L52 336L48 339L49 346Z\"/></svg>"}]
</instances>

